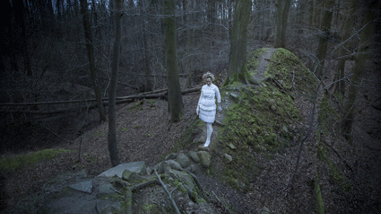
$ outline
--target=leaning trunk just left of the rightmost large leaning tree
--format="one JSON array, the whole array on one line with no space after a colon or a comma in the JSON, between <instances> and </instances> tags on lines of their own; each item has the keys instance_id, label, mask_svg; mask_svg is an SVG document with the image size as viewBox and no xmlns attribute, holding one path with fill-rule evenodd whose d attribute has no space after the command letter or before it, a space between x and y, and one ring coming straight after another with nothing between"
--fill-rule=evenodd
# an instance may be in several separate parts
<instances>
[{"instance_id":1,"label":"leaning trunk just left of the rightmost large leaning tree","mask_svg":"<svg viewBox=\"0 0 381 214\"><path fill-rule=\"evenodd\" d=\"M345 57L346 54L349 54L347 49L345 48L345 44L348 42L351 35L351 29L353 27L353 22L355 20L355 12L358 9L358 0L352 0L351 1L351 7L348 9L348 18L344 24L343 34L341 36L341 43L342 47L339 48L338 53L338 60L337 60L337 67L336 67L336 74L334 81L337 81L335 84L335 92L339 92L342 97L344 97L345 93L345 81L344 81L344 68L345 68L345 61L347 57Z\"/></svg>"}]
</instances>

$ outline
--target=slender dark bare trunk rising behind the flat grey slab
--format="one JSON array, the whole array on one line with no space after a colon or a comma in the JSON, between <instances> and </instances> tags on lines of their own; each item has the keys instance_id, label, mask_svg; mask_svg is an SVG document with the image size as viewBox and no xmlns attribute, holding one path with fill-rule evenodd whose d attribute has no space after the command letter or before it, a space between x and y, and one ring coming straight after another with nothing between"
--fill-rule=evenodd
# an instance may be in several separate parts
<instances>
[{"instance_id":1,"label":"slender dark bare trunk rising behind the flat grey slab","mask_svg":"<svg viewBox=\"0 0 381 214\"><path fill-rule=\"evenodd\" d=\"M109 88L109 152L111 164L116 166L120 163L118 148L117 148L117 116L116 116L116 95L118 83L118 71L120 60L120 49L122 39L122 5L123 0L115 0L115 42L113 50L113 62L111 71L111 80Z\"/></svg>"}]
</instances>

